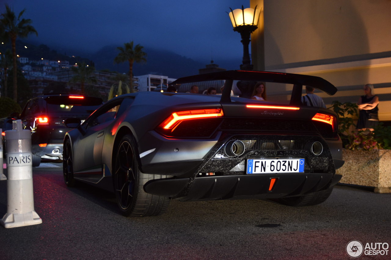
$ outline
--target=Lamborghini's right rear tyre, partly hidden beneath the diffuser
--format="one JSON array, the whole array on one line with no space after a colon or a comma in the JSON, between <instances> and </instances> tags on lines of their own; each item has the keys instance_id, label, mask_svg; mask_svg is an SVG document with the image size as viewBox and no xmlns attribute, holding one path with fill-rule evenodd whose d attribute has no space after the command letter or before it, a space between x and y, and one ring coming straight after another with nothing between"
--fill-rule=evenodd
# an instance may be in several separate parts
<instances>
[{"instance_id":1,"label":"Lamborghini's right rear tyre, partly hidden beneath the diffuser","mask_svg":"<svg viewBox=\"0 0 391 260\"><path fill-rule=\"evenodd\" d=\"M326 190L309 193L304 196L279 198L275 201L283 205L288 205L292 207L317 205L325 201L330 196L331 192L333 191L333 188L334 186Z\"/></svg>"}]
</instances>

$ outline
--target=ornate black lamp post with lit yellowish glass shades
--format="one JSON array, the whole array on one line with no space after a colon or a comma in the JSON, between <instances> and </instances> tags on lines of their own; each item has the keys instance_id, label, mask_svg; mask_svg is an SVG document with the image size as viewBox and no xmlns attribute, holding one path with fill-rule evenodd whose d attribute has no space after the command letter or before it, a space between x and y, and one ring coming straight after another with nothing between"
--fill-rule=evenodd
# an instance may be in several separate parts
<instances>
[{"instance_id":1,"label":"ornate black lamp post with lit yellowish glass shades","mask_svg":"<svg viewBox=\"0 0 391 260\"><path fill-rule=\"evenodd\" d=\"M228 13L230 15L233 30L235 32L239 32L240 36L242 37L242 40L240 42L243 43L243 64L240 65L240 69L243 70L253 69L253 64L251 64L250 60L248 45L250 43L251 32L255 31L256 28L258 28L260 10L256 9L256 7L257 5L255 6L255 9L244 9L242 5L242 9L232 10L230 8L231 12Z\"/></svg>"}]
</instances>

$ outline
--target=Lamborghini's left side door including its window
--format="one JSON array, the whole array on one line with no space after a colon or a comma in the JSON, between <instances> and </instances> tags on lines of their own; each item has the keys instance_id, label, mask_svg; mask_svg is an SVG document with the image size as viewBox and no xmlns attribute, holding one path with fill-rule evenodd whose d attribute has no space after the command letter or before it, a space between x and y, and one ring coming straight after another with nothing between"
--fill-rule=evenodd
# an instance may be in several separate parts
<instances>
[{"instance_id":1,"label":"Lamborghini's left side door including its window","mask_svg":"<svg viewBox=\"0 0 391 260\"><path fill-rule=\"evenodd\" d=\"M115 99L97 109L81 126L84 134L74 144L74 173L100 175L102 148L107 127L117 118L123 98Z\"/></svg>"}]
</instances>

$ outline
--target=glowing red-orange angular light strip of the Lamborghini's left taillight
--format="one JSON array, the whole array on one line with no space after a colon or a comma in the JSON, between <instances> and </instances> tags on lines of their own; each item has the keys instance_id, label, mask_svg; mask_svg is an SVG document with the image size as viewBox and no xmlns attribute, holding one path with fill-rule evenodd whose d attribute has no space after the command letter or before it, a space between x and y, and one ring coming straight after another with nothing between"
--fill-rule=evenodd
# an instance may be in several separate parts
<instances>
[{"instance_id":1,"label":"glowing red-orange angular light strip of the Lamborghini's left taillight","mask_svg":"<svg viewBox=\"0 0 391 260\"><path fill-rule=\"evenodd\" d=\"M169 118L167 118L162 124L161 127L164 129L173 128L176 123L185 119L199 119L199 118L216 118L223 116L222 109L197 109L197 110L186 110L172 113Z\"/></svg>"}]
</instances>

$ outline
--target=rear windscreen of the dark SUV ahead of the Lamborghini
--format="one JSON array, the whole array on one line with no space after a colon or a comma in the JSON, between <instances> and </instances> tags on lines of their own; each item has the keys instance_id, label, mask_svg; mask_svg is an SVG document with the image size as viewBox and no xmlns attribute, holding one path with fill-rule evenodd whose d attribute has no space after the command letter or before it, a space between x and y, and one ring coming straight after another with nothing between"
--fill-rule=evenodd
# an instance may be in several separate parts
<instances>
[{"instance_id":1,"label":"rear windscreen of the dark SUV ahead of the Lamborghini","mask_svg":"<svg viewBox=\"0 0 391 260\"><path fill-rule=\"evenodd\" d=\"M49 96L45 98L47 102L47 112L49 113L75 113L75 114L91 114L100 105L101 98L87 97L70 98L69 96Z\"/></svg>"}]
</instances>

